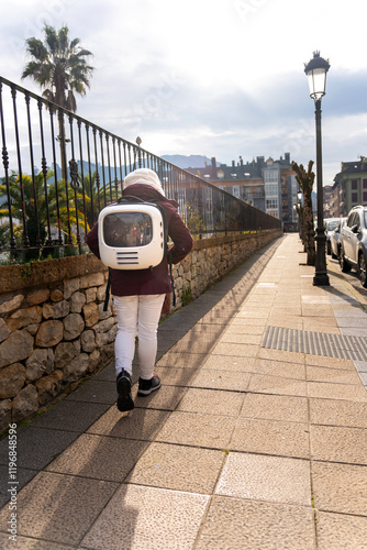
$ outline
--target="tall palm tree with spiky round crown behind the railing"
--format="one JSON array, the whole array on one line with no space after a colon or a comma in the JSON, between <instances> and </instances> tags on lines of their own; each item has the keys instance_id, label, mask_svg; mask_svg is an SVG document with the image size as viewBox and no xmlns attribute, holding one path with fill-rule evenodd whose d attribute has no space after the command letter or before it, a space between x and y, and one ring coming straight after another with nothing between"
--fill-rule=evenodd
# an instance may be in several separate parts
<instances>
[{"instance_id":1,"label":"tall palm tree with spiky round crown behind the railing","mask_svg":"<svg viewBox=\"0 0 367 550\"><path fill-rule=\"evenodd\" d=\"M43 97L63 109L76 112L75 94L86 95L93 67L87 64L92 55L79 45L79 38L69 40L69 30L64 25L59 31L44 25L45 40L26 40L26 51L33 59L25 66L22 78L32 77L43 89ZM59 144L63 179L66 180L65 125L59 116Z\"/></svg>"}]
</instances>

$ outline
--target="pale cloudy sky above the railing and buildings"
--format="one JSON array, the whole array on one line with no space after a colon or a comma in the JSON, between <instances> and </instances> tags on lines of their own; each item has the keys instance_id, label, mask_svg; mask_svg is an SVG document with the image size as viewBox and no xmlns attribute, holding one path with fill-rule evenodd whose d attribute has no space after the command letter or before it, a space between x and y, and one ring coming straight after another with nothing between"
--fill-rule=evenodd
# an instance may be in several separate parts
<instances>
[{"instance_id":1,"label":"pale cloudy sky above the railing and buildings","mask_svg":"<svg viewBox=\"0 0 367 550\"><path fill-rule=\"evenodd\" d=\"M304 63L330 59L324 185L367 155L366 0L1 0L0 74L21 80L44 22L93 53L78 114L158 155L315 160Z\"/></svg>"}]
</instances>

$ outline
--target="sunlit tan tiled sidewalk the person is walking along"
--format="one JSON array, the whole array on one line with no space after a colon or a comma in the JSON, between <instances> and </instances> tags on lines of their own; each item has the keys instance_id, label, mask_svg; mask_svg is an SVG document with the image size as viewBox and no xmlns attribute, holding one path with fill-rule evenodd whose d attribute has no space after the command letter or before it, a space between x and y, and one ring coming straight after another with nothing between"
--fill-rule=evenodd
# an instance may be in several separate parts
<instances>
[{"instance_id":1,"label":"sunlit tan tiled sidewalk the person is walking along","mask_svg":"<svg viewBox=\"0 0 367 550\"><path fill-rule=\"evenodd\" d=\"M365 294L336 270L314 287L304 262L286 235L165 321L163 387L132 413L110 365L20 429L18 541L5 504L1 547L367 549L367 349L265 338L367 337Z\"/></svg>"}]
</instances>

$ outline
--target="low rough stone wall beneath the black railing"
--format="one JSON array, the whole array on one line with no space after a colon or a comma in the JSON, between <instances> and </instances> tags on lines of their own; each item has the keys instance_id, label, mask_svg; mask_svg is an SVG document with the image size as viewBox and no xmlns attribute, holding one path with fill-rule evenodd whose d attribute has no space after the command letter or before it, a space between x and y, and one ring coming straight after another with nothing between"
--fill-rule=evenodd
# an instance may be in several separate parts
<instances>
[{"instance_id":1,"label":"low rough stone wall beneath the black railing","mask_svg":"<svg viewBox=\"0 0 367 550\"><path fill-rule=\"evenodd\" d=\"M177 266L176 309L279 231L194 242ZM116 319L103 311L105 267L92 254L0 267L0 432L31 418L113 356Z\"/></svg>"}]
</instances>

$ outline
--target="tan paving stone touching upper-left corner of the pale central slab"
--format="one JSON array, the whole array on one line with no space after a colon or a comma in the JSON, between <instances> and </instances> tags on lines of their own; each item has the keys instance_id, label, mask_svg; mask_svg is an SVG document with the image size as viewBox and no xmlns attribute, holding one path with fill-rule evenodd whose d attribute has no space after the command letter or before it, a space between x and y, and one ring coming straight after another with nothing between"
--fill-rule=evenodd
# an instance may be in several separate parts
<instances>
[{"instance_id":1,"label":"tan paving stone touching upper-left corner of the pale central slab","mask_svg":"<svg viewBox=\"0 0 367 550\"><path fill-rule=\"evenodd\" d=\"M235 426L233 417L175 411L162 427L156 441L227 449Z\"/></svg>"}]
</instances>

